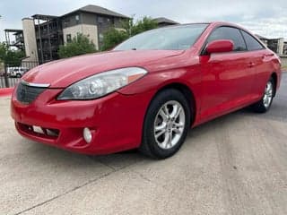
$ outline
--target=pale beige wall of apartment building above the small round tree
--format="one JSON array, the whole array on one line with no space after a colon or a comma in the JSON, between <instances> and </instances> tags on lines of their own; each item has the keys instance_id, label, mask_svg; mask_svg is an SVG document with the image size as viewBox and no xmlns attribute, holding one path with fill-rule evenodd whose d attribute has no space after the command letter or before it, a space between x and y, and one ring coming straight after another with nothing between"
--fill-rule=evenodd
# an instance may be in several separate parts
<instances>
[{"instance_id":1,"label":"pale beige wall of apartment building above the small round tree","mask_svg":"<svg viewBox=\"0 0 287 215\"><path fill-rule=\"evenodd\" d=\"M70 34L73 39L78 33L82 33L87 36L95 44L95 47L99 49L98 41L98 27L97 25L78 24L72 27L63 29L64 43L66 43L66 35Z\"/></svg>"}]
</instances>

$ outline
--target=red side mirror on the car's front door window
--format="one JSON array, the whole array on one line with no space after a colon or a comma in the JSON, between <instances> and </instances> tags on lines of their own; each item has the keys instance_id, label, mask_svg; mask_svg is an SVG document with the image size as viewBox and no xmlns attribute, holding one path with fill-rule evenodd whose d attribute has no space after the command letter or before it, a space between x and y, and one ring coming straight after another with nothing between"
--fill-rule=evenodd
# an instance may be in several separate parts
<instances>
[{"instance_id":1,"label":"red side mirror on the car's front door window","mask_svg":"<svg viewBox=\"0 0 287 215\"><path fill-rule=\"evenodd\" d=\"M208 54L230 52L233 50L233 42L230 39L217 39L208 43L206 46L206 52Z\"/></svg>"}]
</instances>

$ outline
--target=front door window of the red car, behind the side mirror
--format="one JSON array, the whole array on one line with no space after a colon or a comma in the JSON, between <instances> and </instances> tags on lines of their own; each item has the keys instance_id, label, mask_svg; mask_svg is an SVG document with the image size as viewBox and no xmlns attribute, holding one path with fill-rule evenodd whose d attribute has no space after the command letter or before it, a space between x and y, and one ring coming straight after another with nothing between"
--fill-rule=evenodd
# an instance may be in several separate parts
<instances>
[{"instance_id":1,"label":"front door window of the red car, behind the side mirror","mask_svg":"<svg viewBox=\"0 0 287 215\"><path fill-rule=\"evenodd\" d=\"M207 42L211 42L216 39L230 39L234 43L233 51L246 51L247 47L245 45L244 39L240 34L240 31L236 28L230 27L220 27L213 30Z\"/></svg>"}]
</instances>

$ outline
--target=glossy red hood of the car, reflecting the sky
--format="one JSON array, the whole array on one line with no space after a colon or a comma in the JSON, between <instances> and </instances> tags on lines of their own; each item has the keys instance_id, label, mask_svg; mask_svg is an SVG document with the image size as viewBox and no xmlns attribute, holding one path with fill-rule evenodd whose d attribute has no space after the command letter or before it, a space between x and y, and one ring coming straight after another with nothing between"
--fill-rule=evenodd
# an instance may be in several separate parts
<instances>
[{"instance_id":1,"label":"glossy red hood of the car, reflecting the sky","mask_svg":"<svg viewBox=\"0 0 287 215\"><path fill-rule=\"evenodd\" d=\"M48 83L50 88L65 88L92 74L127 66L144 67L162 58L178 56L183 50L110 51L42 64L26 73L22 79L30 83Z\"/></svg>"}]
</instances>

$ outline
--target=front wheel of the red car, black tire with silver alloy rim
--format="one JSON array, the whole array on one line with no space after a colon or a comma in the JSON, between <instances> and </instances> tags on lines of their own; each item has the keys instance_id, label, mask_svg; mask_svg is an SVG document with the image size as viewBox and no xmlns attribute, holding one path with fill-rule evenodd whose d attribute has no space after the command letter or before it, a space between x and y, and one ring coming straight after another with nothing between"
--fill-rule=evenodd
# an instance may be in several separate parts
<instances>
[{"instance_id":1,"label":"front wheel of the red car, black tire with silver alloy rim","mask_svg":"<svg viewBox=\"0 0 287 215\"><path fill-rule=\"evenodd\" d=\"M179 90L160 91L146 112L139 150L153 159L169 158L185 142L190 119L187 99Z\"/></svg>"}]
</instances>

